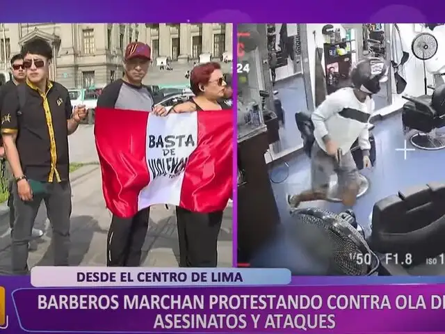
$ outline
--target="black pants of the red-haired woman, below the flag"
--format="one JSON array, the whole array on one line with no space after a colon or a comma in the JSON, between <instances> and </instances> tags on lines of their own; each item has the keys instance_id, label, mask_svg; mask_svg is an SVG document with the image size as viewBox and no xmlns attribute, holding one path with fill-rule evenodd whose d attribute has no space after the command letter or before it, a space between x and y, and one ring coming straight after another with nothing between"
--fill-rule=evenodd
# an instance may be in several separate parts
<instances>
[{"instance_id":1,"label":"black pants of the red-haired woman, below the flag","mask_svg":"<svg viewBox=\"0 0 445 334\"><path fill-rule=\"evenodd\" d=\"M176 207L179 267L211 268L218 264L218 234L223 212L200 214Z\"/></svg>"}]
</instances>

